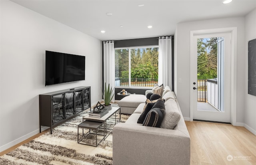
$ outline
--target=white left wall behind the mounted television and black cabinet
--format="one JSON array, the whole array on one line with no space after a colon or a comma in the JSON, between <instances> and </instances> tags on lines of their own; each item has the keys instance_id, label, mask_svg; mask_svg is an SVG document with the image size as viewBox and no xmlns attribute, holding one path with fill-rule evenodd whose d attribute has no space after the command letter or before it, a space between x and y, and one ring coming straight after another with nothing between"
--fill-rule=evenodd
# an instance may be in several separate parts
<instances>
[{"instance_id":1,"label":"white left wall behind the mounted television and black cabinet","mask_svg":"<svg viewBox=\"0 0 256 165\"><path fill-rule=\"evenodd\" d=\"M14 2L0 1L0 151L39 132L39 94L91 86L101 99L101 41ZM44 86L45 50L86 56L86 80Z\"/></svg>"}]
</instances>

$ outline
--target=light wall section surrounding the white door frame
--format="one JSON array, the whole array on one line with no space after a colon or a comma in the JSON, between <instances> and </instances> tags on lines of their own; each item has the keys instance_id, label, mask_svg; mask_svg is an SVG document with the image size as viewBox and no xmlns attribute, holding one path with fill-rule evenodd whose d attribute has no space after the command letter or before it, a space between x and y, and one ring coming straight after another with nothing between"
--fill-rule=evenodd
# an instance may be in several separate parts
<instances>
[{"instance_id":1,"label":"light wall section surrounding the white door frame","mask_svg":"<svg viewBox=\"0 0 256 165\"><path fill-rule=\"evenodd\" d=\"M185 119L190 118L190 31L214 28L237 27L237 122L244 122L244 90L245 90L245 59L244 59L244 17L222 18L214 20L183 22L177 25L177 59L175 86L176 95ZM178 83L179 79L182 83Z\"/></svg>"}]
</instances>

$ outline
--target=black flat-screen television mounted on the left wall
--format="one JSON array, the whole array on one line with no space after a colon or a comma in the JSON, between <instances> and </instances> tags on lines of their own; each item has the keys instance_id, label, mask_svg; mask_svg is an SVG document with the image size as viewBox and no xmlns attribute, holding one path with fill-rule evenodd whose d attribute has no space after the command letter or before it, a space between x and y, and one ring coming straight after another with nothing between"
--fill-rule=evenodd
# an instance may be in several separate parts
<instances>
[{"instance_id":1,"label":"black flat-screen television mounted on the left wall","mask_svg":"<svg viewBox=\"0 0 256 165\"><path fill-rule=\"evenodd\" d=\"M85 80L85 56L45 51L45 86Z\"/></svg>"}]
</instances>

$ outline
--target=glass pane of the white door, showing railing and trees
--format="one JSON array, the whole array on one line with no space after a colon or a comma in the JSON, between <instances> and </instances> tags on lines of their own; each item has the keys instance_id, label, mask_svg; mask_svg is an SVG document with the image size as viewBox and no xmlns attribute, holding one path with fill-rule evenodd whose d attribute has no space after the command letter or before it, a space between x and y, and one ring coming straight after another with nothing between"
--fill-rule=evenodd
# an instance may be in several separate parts
<instances>
[{"instance_id":1,"label":"glass pane of the white door, showing railing and trees","mask_svg":"<svg viewBox=\"0 0 256 165\"><path fill-rule=\"evenodd\" d=\"M218 109L218 38L197 39L197 107L203 111Z\"/></svg>"}]
</instances>

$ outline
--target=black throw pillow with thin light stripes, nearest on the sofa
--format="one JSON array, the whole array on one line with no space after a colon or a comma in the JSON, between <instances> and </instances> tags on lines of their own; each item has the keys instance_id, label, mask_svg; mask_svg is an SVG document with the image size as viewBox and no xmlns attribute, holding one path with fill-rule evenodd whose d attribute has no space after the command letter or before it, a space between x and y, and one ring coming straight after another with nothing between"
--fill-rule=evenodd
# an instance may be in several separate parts
<instances>
[{"instance_id":1,"label":"black throw pillow with thin light stripes, nearest on the sofa","mask_svg":"<svg viewBox=\"0 0 256 165\"><path fill-rule=\"evenodd\" d=\"M164 113L164 109L152 108L146 115L142 125L148 127L160 127L164 119Z\"/></svg>"}]
</instances>

